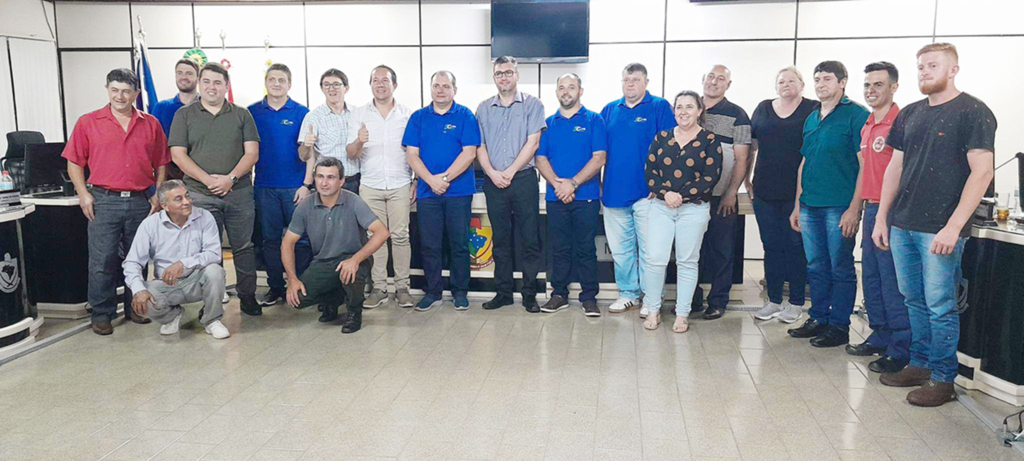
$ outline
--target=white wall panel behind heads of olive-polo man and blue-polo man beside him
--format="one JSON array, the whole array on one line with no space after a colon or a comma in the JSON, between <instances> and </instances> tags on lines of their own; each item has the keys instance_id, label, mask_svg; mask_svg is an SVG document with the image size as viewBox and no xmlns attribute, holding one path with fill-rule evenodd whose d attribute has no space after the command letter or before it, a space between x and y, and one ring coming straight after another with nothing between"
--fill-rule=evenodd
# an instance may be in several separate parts
<instances>
[{"instance_id":1,"label":"white wall panel behind heads of olive-polo man and blue-polo man beside him","mask_svg":"<svg viewBox=\"0 0 1024 461\"><path fill-rule=\"evenodd\" d=\"M282 62L292 71L292 99L306 103L305 55L302 48L270 48L264 52L262 48L231 49L221 51L220 48L206 50L210 60L220 61L227 58L231 64L228 74L231 76L231 91L234 103L248 107L263 98L266 94L264 79L266 77L267 60ZM164 95L167 94L167 95ZM173 93L163 93L163 98Z\"/></svg>"}]
</instances>

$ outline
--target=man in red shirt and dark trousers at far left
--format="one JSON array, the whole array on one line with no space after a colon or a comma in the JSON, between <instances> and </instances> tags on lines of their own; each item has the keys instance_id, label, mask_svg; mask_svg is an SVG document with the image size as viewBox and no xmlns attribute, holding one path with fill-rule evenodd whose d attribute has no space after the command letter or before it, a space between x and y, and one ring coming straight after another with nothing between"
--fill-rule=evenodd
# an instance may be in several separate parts
<instances>
[{"instance_id":1,"label":"man in red shirt and dark trousers at far left","mask_svg":"<svg viewBox=\"0 0 1024 461\"><path fill-rule=\"evenodd\" d=\"M98 335L114 333L121 263L139 223L159 209L157 197L146 199L146 190L164 181L171 161L160 122L132 107L138 95L135 73L115 69L106 74L106 95L110 104L78 119L62 154L89 220L89 304ZM130 308L125 315L137 324L150 323Z\"/></svg>"}]
</instances>

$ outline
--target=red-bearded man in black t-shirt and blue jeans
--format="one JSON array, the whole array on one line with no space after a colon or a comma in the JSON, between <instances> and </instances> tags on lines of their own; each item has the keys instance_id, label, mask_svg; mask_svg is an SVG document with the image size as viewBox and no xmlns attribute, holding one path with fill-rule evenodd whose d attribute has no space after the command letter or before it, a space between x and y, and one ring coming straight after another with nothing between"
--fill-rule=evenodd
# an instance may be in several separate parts
<instances>
[{"instance_id":1,"label":"red-bearded man in black t-shirt and blue jeans","mask_svg":"<svg viewBox=\"0 0 1024 461\"><path fill-rule=\"evenodd\" d=\"M928 98L903 109L889 132L893 157L871 234L880 249L892 247L913 332L910 364L881 381L921 386L906 400L922 407L956 399L956 280L971 215L993 175L995 117L956 89L957 72L953 45L918 51L918 86Z\"/></svg>"}]
</instances>

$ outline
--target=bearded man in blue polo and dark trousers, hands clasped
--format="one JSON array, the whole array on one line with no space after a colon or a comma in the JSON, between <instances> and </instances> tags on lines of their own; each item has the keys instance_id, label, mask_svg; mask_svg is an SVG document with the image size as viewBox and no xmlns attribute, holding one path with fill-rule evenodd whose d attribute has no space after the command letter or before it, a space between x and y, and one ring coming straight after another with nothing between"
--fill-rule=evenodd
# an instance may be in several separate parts
<instances>
[{"instance_id":1,"label":"bearded man in blue polo and dark trousers, hands clasped","mask_svg":"<svg viewBox=\"0 0 1024 461\"><path fill-rule=\"evenodd\" d=\"M553 291L543 312L568 305L569 281L580 281L580 301L587 317L601 317L597 307L597 215L601 210L600 179L608 137L604 120L580 103L583 82L575 74L558 78L561 108L548 117L548 129L537 151L537 169L548 181L548 243L551 245Z\"/></svg>"}]
</instances>

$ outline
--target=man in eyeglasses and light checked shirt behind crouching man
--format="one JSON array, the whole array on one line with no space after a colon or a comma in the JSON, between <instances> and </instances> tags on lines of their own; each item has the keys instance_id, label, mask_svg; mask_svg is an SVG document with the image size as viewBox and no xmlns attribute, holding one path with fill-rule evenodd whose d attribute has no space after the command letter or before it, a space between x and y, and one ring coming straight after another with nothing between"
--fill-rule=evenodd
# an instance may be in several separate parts
<instances>
[{"instance_id":1,"label":"man in eyeglasses and light checked shirt behind crouching man","mask_svg":"<svg viewBox=\"0 0 1024 461\"><path fill-rule=\"evenodd\" d=\"M309 114L302 120L302 127L299 128L299 159L303 162L312 158L332 157L341 161L345 166L345 183L342 188L352 193L359 193L359 159L349 157L348 151L348 122L351 113L345 104L345 94L348 93L348 76L337 69L328 69L321 76L321 91L327 101L316 109L309 111ZM312 191L312 183L303 184Z\"/></svg>"}]
</instances>

